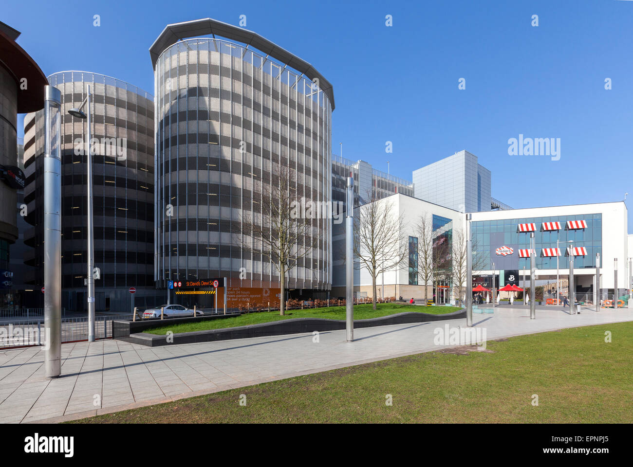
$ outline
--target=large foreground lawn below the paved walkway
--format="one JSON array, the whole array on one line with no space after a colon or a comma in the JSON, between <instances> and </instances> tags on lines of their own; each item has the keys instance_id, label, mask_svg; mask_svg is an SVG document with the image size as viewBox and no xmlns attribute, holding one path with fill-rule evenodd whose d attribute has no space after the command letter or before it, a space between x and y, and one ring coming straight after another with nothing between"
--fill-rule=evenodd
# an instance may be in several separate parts
<instances>
[{"instance_id":1,"label":"large foreground lawn below the paved walkway","mask_svg":"<svg viewBox=\"0 0 633 467\"><path fill-rule=\"evenodd\" d=\"M605 342L605 331L612 333ZM70 423L630 423L633 323L428 352ZM246 395L246 406L239 404ZM392 395L393 405L385 404ZM532 396L539 397L538 406Z\"/></svg>"}]
</instances>

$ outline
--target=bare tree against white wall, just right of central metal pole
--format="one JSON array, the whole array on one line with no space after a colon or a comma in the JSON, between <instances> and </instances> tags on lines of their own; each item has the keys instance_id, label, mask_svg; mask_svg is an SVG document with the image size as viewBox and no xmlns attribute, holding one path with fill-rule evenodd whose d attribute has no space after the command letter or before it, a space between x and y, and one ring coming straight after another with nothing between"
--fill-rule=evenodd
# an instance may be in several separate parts
<instances>
[{"instance_id":1,"label":"bare tree against white wall, just right of central metal pole","mask_svg":"<svg viewBox=\"0 0 633 467\"><path fill-rule=\"evenodd\" d=\"M368 190L369 202L354 215L354 256L360 269L372 276L372 302L376 309L376 279L380 273L392 270L408 258L404 242L404 216L392 210L392 202L379 201L375 189Z\"/></svg>"}]
</instances>

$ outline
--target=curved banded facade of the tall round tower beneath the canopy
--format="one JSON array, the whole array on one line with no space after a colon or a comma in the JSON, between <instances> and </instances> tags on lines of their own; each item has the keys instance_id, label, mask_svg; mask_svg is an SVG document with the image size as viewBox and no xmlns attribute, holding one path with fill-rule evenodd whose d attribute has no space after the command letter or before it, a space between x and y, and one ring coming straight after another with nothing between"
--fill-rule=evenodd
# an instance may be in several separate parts
<instances>
[{"instance_id":1,"label":"curved banded facade of the tall round tower beneath the canopy","mask_svg":"<svg viewBox=\"0 0 633 467\"><path fill-rule=\"evenodd\" d=\"M279 271L246 243L242 219L261 219L262 190L279 165L291 168L299 198L330 201L328 97L287 66L221 39L168 47L154 80L158 287L241 271L241 287L275 287ZM290 289L330 289L330 224L313 220L318 247L289 271Z\"/></svg>"}]
</instances>

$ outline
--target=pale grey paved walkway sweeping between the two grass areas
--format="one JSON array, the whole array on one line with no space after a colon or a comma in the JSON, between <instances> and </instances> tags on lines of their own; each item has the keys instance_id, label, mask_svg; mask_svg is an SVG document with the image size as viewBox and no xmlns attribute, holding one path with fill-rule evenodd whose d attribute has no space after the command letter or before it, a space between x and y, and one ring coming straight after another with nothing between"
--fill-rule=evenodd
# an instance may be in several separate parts
<instances>
[{"instance_id":1,"label":"pale grey paved walkway sweeping between the two grass areas","mask_svg":"<svg viewBox=\"0 0 633 467\"><path fill-rule=\"evenodd\" d=\"M619 321L633 309L584 309L569 314L496 308L473 314L487 340ZM44 377L43 347L0 351L0 423L74 420L208 394L353 364L434 351L434 329L464 327L465 319L253 339L144 347L119 340L63 344L60 378Z\"/></svg>"}]
</instances>

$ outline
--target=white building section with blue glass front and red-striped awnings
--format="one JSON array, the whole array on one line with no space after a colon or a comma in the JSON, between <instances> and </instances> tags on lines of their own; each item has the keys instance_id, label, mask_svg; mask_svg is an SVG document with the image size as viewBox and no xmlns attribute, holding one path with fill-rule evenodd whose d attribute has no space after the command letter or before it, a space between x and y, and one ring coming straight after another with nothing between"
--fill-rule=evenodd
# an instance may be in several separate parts
<instances>
[{"instance_id":1,"label":"white building section with blue glass front and red-striped awnings","mask_svg":"<svg viewBox=\"0 0 633 467\"><path fill-rule=\"evenodd\" d=\"M558 277L567 279L573 253L575 292L591 301L599 255L601 294L613 296L616 263L618 297L627 294L630 236L624 201L472 213L473 261L481 265L479 275L494 272L502 286L523 287L523 277L529 283L526 250L532 233L539 283L556 282L557 263Z\"/></svg>"}]
</instances>

